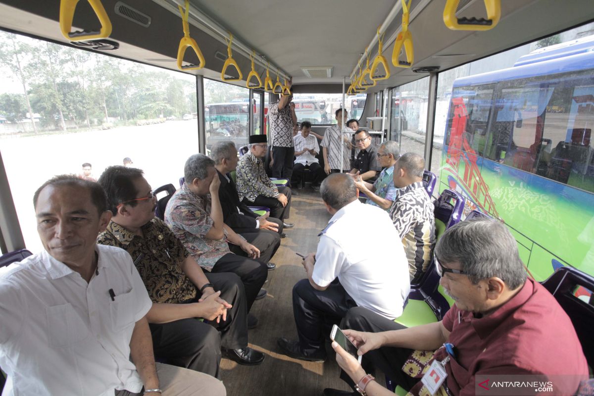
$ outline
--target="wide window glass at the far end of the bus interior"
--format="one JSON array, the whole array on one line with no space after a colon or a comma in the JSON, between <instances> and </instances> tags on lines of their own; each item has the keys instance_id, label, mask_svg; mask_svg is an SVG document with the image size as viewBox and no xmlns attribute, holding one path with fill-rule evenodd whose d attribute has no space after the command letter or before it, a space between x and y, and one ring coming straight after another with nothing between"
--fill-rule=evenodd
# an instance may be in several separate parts
<instances>
[{"instance_id":1,"label":"wide window glass at the far end of the bus interior","mask_svg":"<svg viewBox=\"0 0 594 396\"><path fill-rule=\"evenodd\" d=\"M348 112L347 119L361 118L366 95L347 95L345 97ZM295 103L297 122L309 121L314 125L335 124L334 112L342 107L342 94L295 94L293 95L293 103ZM353 112L356 117L352 116Z\"/></svg>"}]
</instances>

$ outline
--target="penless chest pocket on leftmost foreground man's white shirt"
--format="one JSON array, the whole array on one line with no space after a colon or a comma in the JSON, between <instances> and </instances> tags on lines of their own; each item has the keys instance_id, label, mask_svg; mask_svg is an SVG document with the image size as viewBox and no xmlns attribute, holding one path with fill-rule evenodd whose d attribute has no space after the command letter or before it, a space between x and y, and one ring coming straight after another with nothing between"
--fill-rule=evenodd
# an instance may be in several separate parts
<instances>
[{"instance_id":1,"label":"penless chest pocket on leftmost foreground man's white shirt","mask_svg":"<svg viewBox=\"0 0 594 396\"><path fill-rule=\"evenodd\" d=\"M56 347L72 346L89 336L89 328L71 304L48 306L48 341Z\"/></svg>"}]
</instances>

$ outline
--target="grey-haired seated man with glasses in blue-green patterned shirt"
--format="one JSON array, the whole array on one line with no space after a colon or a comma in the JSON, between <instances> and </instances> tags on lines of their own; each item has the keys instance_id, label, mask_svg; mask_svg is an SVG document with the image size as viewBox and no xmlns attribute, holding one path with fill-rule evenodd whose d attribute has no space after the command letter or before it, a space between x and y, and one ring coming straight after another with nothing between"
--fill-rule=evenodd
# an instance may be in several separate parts
<instances>
[{"instance_id":1,"label":"grey-haired seated man with glasses in blue-green patterned shirt","mask_svg":"<svg viewBox=\"0 0 594 396\"><path fill-rule=\"evenodd\" d=\"M367 196L367 204L390 210L394 197L398 194L393 178L394 164L400 157L398 143L392 140L383 142L377 151L377 157L380 159L380 166L384 169L373 184L359 180L357 175L353 175L353 179L359 191Z\"/></svg>"}]
</instances>

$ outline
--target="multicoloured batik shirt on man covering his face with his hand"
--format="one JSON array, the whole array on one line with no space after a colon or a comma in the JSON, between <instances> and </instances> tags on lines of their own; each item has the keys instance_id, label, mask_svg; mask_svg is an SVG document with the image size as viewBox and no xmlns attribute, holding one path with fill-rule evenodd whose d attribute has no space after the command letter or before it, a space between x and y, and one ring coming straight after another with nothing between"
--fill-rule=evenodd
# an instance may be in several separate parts
<instances>
[{"instance_id":1,"label":"multicoloured batik shirt on man covering his face with his hand","mask_svg":"<svg viewBox=\"0 0 594 396\"><path fill-rule=\"evenodd\" d=\"M191 192L184 183L169 199L165 210L165 223L173 235L207 271L212 270L222 256L230 253L226 235L222 239L206 237L214 224L210 217L210 199L210 194L201 197Z\"/></svg>"}]
</instances>

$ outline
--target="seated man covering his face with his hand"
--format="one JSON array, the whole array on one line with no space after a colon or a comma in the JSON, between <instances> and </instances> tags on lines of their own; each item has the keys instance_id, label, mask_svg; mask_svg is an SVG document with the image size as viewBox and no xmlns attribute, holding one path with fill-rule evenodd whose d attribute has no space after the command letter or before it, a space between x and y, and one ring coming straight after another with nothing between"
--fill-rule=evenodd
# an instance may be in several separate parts
<instances>
[{"instance_id":1,"label":"seated man covering his face with his hand","mask_svg":"<svg viewBox=\"0 0 594 396\"><path fill-rule=\"evenodd\" d=\"M184 177L184 185L169 199L165 223L204 270L239 275L249 312L268 275L266 264L255 260L260 251L223 223L220 181L213 160L204 154L190 156ZM254 259L233 254L228 242ZM265 290L262 293L261 297L266 296Z\"/></svg>"}]
</instances>

